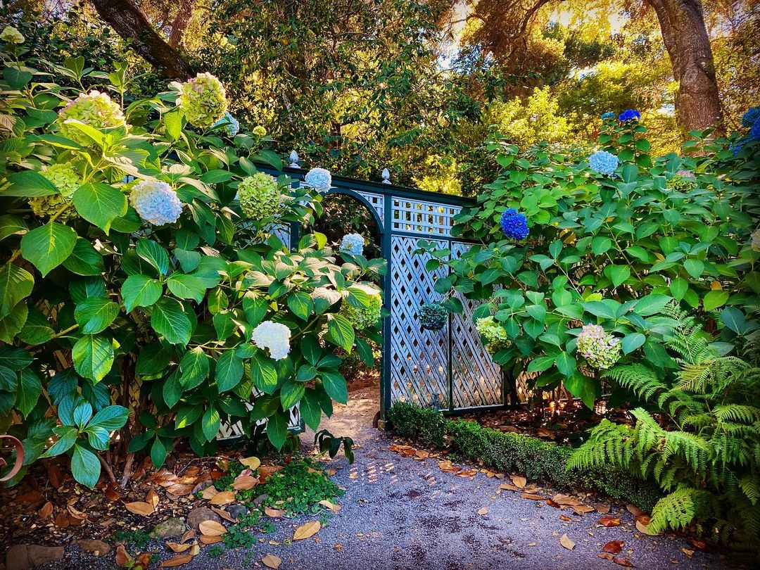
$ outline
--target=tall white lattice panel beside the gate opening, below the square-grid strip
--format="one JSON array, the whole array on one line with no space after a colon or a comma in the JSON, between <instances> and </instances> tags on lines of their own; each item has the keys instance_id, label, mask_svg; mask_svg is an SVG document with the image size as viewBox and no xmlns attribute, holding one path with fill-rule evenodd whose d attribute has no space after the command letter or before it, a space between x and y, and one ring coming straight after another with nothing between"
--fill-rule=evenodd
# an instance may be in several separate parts
<instances>
[{"instance_id":1,"label":"tall white lattice panel beside the gate opening, below the square-grid strip","mask_svg":"<svg viewBox=\"0 0 760 570\"><path fill-rule=\"evenodd\" d=\"M441 299L433 290L445 268L425 270L429 255L413 255L417 239L391 238L391 404L412 401L448 407L448 325L423 331L418 311L423 302ZM445 242L439 242L445 247Z\"/></svg>"}]
</instances>

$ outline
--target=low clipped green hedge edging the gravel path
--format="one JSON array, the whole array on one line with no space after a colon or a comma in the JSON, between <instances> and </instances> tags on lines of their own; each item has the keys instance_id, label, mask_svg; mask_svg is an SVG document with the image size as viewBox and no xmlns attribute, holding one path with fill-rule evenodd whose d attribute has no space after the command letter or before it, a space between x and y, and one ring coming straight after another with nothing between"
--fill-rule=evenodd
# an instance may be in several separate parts
<instances>
[{"instance_id":1,"label":"low clipped green hedge edging the gravel path","mask_svg":"<svg viewBox=\"0 0 760 570\"><path fill-rule=\"evenodd\" d=\"M625 499L651 511L662 496L654 482L613 469L567 470L573 448L519 433L500 432L467 420L448 420L442 413L397 402L386 414L397 435L423 445L448 444L479 464L505 473L523 473L530 480L560 489L594 489L613 499Z\"/></svg>"}]
</instances>

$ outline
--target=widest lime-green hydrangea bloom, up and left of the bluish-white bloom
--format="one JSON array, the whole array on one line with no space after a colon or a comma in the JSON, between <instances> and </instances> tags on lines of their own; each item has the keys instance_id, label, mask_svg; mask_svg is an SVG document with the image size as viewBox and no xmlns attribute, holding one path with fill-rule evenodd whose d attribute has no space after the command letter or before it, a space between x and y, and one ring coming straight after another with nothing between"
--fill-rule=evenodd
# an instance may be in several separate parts
<instances>
[{"instance_id":1,"label":"widest lime-green hydrangea bloom, up and left of the bluish-white bloom","mask_svg":"<svg viewBox=\"0 0 760 570\"><path fill-rule=\"evenodd\" d=\"M126 127L124 113L118 103L111 100L108 93L90 91L79 93L79 97L66 103L58 113L61 135L82 146L92 144L90 138L68 121L79 121L93 128Z\"/></svg>"}]
</instances>

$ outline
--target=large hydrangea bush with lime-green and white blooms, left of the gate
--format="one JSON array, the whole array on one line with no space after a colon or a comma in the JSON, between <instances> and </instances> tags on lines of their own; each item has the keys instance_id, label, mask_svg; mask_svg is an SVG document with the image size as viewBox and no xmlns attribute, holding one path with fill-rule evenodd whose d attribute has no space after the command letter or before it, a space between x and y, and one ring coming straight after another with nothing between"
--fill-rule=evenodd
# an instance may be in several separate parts
<instances>
[{"instance_id":1,"label":"large hydrangea bush with lime-green and white blooms, left of the gate","mask_svg":"<svg viewBox=\"0 0 760 570\"><path fill-rule=\"evenodd\" d=\"M80 93L22 52L0 79L0 432L24 464L67 454L91 487L101 461L213 452L223 421L266 419L281 448L299 404L316 431L347 401L335 348L371 365L382 304L369 262L277 236L321 196L261 171L281 169L265 132L205 130L226 109L208 74L122 108L123 68L68 60L72 84L97 85Z\"/></svg>"}]
</instances>

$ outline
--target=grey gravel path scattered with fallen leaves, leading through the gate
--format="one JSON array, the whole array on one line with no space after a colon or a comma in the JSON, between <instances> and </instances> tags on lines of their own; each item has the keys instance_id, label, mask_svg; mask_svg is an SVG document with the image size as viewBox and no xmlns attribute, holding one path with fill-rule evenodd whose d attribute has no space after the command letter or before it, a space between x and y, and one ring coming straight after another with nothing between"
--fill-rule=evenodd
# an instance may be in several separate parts
<instances>
[{"instance_id":1,"label":"grey gravel path scattered with fallen leaves, leading through the gate","mask_svg":"<svg viewBox=\"0 0 760 570\"><path fill-rule=\"evenodd\" d=\"M604 543L623 540L622 556L637 568L725 568L726 562L696 551L682 552L689 543L676 537L639 535L625 505L613 505L610 515L621 518L619 527L596 527L601 515L578 517L521 499L517 493L496 494L499 480L478 473L473 480L443 473L435 460L414 461L388 451L393 439L372 429L378 410L377 388L351 394L347 407L337 407L325 423L336 435L350 435L360 448L356 463L342 454L331 462L338 470L334 480L344 489L343 509L331 515L327 527L312 539L288 543L295 527L306 520L278 521L277 530L253 549L225 551L212 559L208 548L181 568L261 568L261 558L273 554L289 568L607 568L619 565L599 559ZM302 437L311 448L312 435ZM486 515L477 511L488 508ZM559 520L559 515L571 521ZM559 544L567 534L575 548ZM94 568L77 553L78 568ZM73 562L74 553L67 556ZM62 561L65 562L65 561ZM84 562L84 564L83 564ZM92 560L94 562L94 560ZM98 562L105 562L103 559ZM61 564L61 562L59 562ZM100 565L98 565L100 566ZM57 568L74 566L56 565Z\"/></svg>"}]
</instances>

